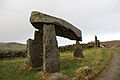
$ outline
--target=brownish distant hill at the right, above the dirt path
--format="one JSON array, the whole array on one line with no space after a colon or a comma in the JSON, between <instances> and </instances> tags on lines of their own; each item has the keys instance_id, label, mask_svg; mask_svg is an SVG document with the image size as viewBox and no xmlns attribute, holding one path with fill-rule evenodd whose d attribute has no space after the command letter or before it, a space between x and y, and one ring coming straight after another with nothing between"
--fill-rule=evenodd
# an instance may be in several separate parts
<instances>
[{"instance_id":1,"label":"brownish distant hill at the right, above the dirt path","mask_svg":"<svg viewBox=\"0 0 120 80\"><path fill-rule=\"evenodd\" d=\"M105 41L101 42L102 45L106 47L120 47L120 40L113 40L113 41Z\"/></svg>"}]
</instances>

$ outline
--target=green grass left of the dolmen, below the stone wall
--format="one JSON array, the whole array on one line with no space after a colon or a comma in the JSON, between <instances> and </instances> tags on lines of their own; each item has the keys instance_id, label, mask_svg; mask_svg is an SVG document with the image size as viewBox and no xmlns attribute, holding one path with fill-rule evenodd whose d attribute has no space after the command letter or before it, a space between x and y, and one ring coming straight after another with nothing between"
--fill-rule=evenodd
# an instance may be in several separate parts
<instances>
[{"instance_id":1,"label":"green grass left of the dolmen, below the stone wall","mask_svg":"<svg viewBox=\"0 0 120 80\"><path fill-rule=\"evenodd\" d=\"M13 60L0 60L0 80L39 80L37 70L20 70L25 64L25 59L15 58Z\"/></svg>"}]
</instances>

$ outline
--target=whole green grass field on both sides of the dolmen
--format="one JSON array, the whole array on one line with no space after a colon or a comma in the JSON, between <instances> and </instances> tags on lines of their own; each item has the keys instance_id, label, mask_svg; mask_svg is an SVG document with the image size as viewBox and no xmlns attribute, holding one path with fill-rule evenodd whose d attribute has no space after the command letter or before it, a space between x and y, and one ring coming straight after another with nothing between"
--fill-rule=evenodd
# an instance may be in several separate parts
<instances>
[{"instance_id":1,"label":"whole green grass field on both sides of the dolmen","mask_svg":"<svg viewBox=\"0 0 120 80\"><path fill-rule=\"evenodd\" d=\"M84 59L76 60L73 58L73 52L67 51L61 53L61 72L69 78L74 77L77 69L81 66L94 68L91 75L100 72L111 57L111 50L107 48L86 49L83 51ZM26 58L14 58L0 60L0 80L40 80L40 68L29 71L21 70L20 67L25 64ZM99 64L97 64L99 63ZM79 74L78 74L79 75Z\"/></svg>"}]
</instances>

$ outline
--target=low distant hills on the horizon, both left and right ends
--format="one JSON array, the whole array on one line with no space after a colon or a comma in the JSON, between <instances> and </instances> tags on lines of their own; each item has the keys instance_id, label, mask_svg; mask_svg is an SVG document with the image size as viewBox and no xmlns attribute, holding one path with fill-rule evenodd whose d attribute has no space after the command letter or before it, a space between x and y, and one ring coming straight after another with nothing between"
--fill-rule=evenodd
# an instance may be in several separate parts
<instances>
[{"instance_id":1,"label":"low distant hills on the horizon, both left and right ends","mask_svg":"<svg viewBox=\"0 0 120 80\"><path fill-rule=\"evenodd\" d=\"M104 45L105 47L120 47L120 40L101 42L101 45ZM26 44L16 42L10 43L0 42L0 50L25 50L25 49Z\"/></svg>"}]
</instances>

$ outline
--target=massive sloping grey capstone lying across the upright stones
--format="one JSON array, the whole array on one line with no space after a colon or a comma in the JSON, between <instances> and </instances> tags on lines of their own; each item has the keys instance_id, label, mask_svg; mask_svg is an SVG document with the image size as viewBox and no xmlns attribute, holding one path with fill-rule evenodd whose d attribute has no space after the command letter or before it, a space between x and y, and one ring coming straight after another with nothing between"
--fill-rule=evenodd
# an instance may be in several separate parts
<instances>
[{"instance_id":1,"label":"massive sloping grey capstone lying across the upright stones","mask_svg":"<svg viewBox=\"0 0 120 80\"><path fill-rule=\"evenodd\" d=\"M63 19L33 11L31 13L30 22L39 30L42 29L44 24L53 24L57 36L82 41L81 31Z\"/></svg>"}]
</instances>

